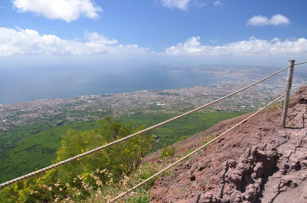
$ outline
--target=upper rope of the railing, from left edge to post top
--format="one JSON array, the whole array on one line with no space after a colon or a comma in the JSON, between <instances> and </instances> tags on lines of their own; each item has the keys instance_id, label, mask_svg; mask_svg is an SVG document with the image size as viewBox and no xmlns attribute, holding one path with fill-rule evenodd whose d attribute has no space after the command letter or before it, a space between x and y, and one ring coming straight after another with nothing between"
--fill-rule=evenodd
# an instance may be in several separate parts
<instances>
[{"instance_id":1,"label":"upper rope of the railing, from left edge to post top","mask_svg":"<svg viewBox=\"0 0 307 203\"><path fill-rule=\"evenodd\" d=\"M130 138L136 137L136 136L138 136L139 134L142 134L142 133L147 132L147 131L149 131L149 130L155 129L155 128L161 126L161 125L167 124L167 123L172 122L172 121L174 121L174 120L180 119L180 118L182 118L182 117L184 117L184 116L187 116L187 115L189 115L189 114L192 114L192 112L198 111L198 110L200 110L200 109L202 109L202 108L205 108L205 107L208 107L208 106L210 106L210 105L212 105L212 104L214 104L214 103L216 103L216 102L219 102L219 101L221 101L221 100L224 100L224 99L226 99L226 98L228 98L228 97L230 97L230 96L232 96L232 95L235 95L235 94L237 94L237 93L239 93L239 92L242 92L242 91L244 91L245 89L247 89L247 88L249 88L249 87L251 87L251 86L254 86L254 85L256 85L256 84L258 84L258 83L260 83L260 82L262 82L262 81L264 81L264 80L266 80L266 79L268 79L268 78L270 78L270 77L272 77L272 76L274 76L274 75L276 75L276 74L278 74L278 73L280 73L280 72L282 72L282 71L284 71L284 70L286 70L286 69L288 69L288 67L290 67L290 66L291 66L291 64L288 65L287 67L284 67L284 68L281 69L280 71L277 71L276 73L273 73L272 75L270 75L270 76L268 76L268 77L262 79L262 80L259 80L259 81L255 82L255 83L253 83L253 84L251 84L251 85L249 85L249 86L246 86L246 87L244 87L244 88L242 88L242 89L239 89L238 91L236 91L236 92L234 92L234 93L231 93L231 94L229 94L229 95L227 95L227 96L225 96L225 97L222 97L222 98L217 99L217 100L215 100L215 101L213 101L213 102L210 102L210 103L208 103L208 104L205 104L205 105L203 105L203 106L201 106L201 107L198 107L198 108L195 108L195 109L193 109L193 110L190 110L190 111L188 111L188 112L186 112L186 113L184 113L184 114L182 114L182 115L179 115L179 116L177 116L177 117L174 117L174 118L172 118L172 119L169 119L169 120L164 121L164 122L162 122L162 123L159 123L159 124L157 124L157 125L151 126L151 127L146 128L146 129L144 129L144 130L141 130L141 131L139 131L139 132L136 132L136 133L134 133L134 134L131 134L130 136L127 136L127 137L125 137L125 138L119 139L119 140L117 140L117 141L108 143L108 144L103 145L103 146L101 146L101 147L92 149L92 150L90 150L90 151L84 152L84 153L79 154L79 155L76 155L76 156L74 156L74 157L71 157L70 159L64 160L64 161L62 161L62 162L53 164L53 165L48 166L48 167L46 167L46 168L39 169L39 170L34 171L34 172L32 172L32 173L29 173L29 174L27 174L27 175L20 176L20 177L17 177L17 178L15 178L15 179L12 179L11 181L8 181L8 182L5 182L5 183L3 183L3 184L0 184L0 189L4 188L4 187L6 187L6 186L12 185L12 184L14 184L14 183L16 183L16 182L22 181L23 179L26 179L26 178L32 177L32 176L34 176L34 175L37 175L37 174L39 174L39 173L43 173L43 172L46 172L46 171L48 171L48 170L51 170L51 169L54 169L54 168L56 168L56 167L62 166L62 165L64 165L64 164L67 164L67 163L69 163L69 162L75 161L75 160L77 160L77 159L80 159L80 158L83 157L83 156L90 155L90 154L92 154L92 153L95 153L95 152L100 151L100 150L102 150L102 149L105 149L105 148L107 148L107 147L113 146L113 145L115 145L115 144L118 144L118 143L123 142L123 141L125 141L125 140L128 140L128 139L130 139Z\"/></svg>"}]
</instances>

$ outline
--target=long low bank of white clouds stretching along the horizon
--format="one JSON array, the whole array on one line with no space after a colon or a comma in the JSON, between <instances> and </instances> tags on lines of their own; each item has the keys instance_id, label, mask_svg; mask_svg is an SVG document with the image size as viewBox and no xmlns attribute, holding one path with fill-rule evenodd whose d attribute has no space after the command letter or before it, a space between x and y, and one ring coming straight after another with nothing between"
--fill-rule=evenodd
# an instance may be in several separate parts
<instances>
[{"instance_id":1,"label":"long low bank of white clouds stretching along the horizon","mask_svg":"<svg viewBox=\"0 0 307 203\"><path fill-rule=\"evenodd\" d=\"M272 40L256 39L235 41L224 46L202 45L201 38L191 37L184 43L166 49L163 53L149 52L136 44L108 45L117 43L97 33L85 32L89 42L65 40L54 34L40 35L35 30L0 28L0 56L13 55L89 55L89 54L126 54L126 55L179 55L179 56L306 56L307 39L278 38ZM214 41L214 40L213 40ZM212 42L213 42L212 41Z\"/></svg>"}]
</instances>

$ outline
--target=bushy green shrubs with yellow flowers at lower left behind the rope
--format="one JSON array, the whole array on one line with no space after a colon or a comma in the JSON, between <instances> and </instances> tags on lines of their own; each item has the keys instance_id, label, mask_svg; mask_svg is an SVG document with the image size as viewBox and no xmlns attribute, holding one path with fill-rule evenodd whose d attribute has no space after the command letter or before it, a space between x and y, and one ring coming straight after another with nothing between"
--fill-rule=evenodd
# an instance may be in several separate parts
<instances>
[{"instance_id":1,"label":"bushy green shrubs with yellow flowers at lower left behind the rope","mask_svg":"<svg viewBox=\"0 0 307 203\"><path fill-rule=\"evenodd\" d=\"M105 118L100 124L99 129L85 132L69 129L61 141L54 162L124 138L145 127L136 128L133 122L124 124L111 117ZM88 199L93 193L100 194L104 189L112 188L113 184L125 184L126 175L130 175L140 166L151 140L152 137L144 133L76 162L47 171L38 178L26 179L1 190L0 200L6 203L76 202ZM144 179L148 176L142 175ZM147 187L150 187L152 183L148 184Z\"/></svg>"}]
</instances>

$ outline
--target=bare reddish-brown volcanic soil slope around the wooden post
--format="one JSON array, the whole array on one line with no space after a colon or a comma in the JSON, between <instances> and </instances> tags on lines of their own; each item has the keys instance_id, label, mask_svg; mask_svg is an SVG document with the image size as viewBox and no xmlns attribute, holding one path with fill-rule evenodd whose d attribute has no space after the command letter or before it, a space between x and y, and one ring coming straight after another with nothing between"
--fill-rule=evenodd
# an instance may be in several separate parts
<instances>
[{"instance_id":1,"label":"bare reddish-brown volcanic soil slope around the wooden post","mask_svg":"<svg viewBox=\"0 0 307 203\"><path fill-rule=\"evenodd\" d=\"M260 112L160 177L151 202L307 202L307 86L290 103L286 128L280 127L280 108ZM218 123L174 146L179 152L200 147L207 134L217 136L246 117Z\"/></svg>"}]
</instances>

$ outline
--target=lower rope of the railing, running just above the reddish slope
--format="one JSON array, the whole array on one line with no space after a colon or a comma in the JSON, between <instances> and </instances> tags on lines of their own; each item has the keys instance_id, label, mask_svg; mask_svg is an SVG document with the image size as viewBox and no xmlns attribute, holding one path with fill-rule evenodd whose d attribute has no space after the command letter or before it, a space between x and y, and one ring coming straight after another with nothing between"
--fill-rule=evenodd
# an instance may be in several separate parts
<instances>
[{"instance_id":1,"label":"lower rope of the railing, running just above the reddish slope","mask_svg":"<svg viewBox=\"0 0 307 203\"><path fill-rule=\"evenodd\" d=\"M307 83L307 81L304 82L304 83L302 83L302 84L300 84L300 85L298 85L298 86L296 86L295 88L291 89L290 92L294 91L294 89L296 89L296 88L302 86L302 85L305 84L305 83ZM154 175L148 177L147 179L145 179L145 181L139 183L138 185L134 186L133 188L127 190L126 192L123 192L122 194L118 195L117 197L115 197L114 199L108 201L107 203L115 202L115 201L119 200L120 198L122 198L123 196L129 194L130 192L133 192L135 189L141 187L142 185L144 185L145 183L147 183L147 182L150 181L151 179L157 177L158 175L160 175L160 174L162 174L163 172L167 171L167 170L170 169L171 167L173 167L173 166L175 166L176 164L182 162L182 161L185 160L187 157L189 157L189 156L193 155L194 153L198 152L199 150L203 149L203 148L206 147L208 144L210 144L210 143L214 142L215 140L221 138L221 137L224 136L224 134L226 134L227 132L229 132L229 131L231 131L232 129L236 128L236 127L239 126L240 124L245 123L247 120L249 120L250 118L254 117L254 116L257 115L260 111L266 109L268 106L270 106L270 105L273 104L274 102L278 101L280 98L282 98L282 97L283 97L284 95L286 95L286 94L288 94L288 92L283 93L283 94L280 95L278 98L276 98L274 101L272 101L271 103L267 104L265 107L263 107L263 108L257 110L254 114L252 114L252 115L249 116L248 118L244 119L243 121L237 123L237 124L234 125L233 127L229 128L228 130L226 130L225 132L223 132L222 134L220 134L220 136L217 136L216 138L214 138L213 140L207 142L207 143L204 144L203 146L201 146L201 147L195 149L195 150L192 151L191 153L189 153L189 154L185 155L184 157L182 157L180 160L178 160L178 161L174 162L173 164L169 165L168 167L162 169L162 170L159 171L158 173L156 173L156 174L154 174Z\"/></svg>"}]
</instances>

